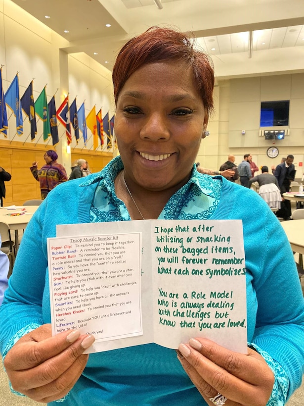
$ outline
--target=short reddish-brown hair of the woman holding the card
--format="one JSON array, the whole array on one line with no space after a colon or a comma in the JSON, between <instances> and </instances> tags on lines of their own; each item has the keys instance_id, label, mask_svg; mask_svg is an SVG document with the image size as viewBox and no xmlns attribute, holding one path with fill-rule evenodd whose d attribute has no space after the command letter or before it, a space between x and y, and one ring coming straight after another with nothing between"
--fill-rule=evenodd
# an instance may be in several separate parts
<instances>
[{"instance_id":1,"label":"short reddish-brown hair of the woman holding the card","mask_svg":"<svg viewBox=\"0 0 304 406\"><path fill-rule=\"evenodd\" d=\"M148 63L166 60L182 61L192 67L197 89L210 115L214 109L212 62L206 53L194 49L185 34L170 28L151 27L130 39L120 50L112 73L115 103L132 73Z\"/></svg>"}]
</instances>

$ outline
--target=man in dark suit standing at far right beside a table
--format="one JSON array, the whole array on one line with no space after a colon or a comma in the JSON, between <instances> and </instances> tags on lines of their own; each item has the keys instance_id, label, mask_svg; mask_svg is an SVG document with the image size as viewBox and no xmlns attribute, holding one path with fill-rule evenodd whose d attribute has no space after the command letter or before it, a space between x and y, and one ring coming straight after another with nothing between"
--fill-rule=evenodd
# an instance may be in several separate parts
<instances>
[{"instance_id":1,"label":"man in dark suit standing at far right beside a table","mask_svg":"<svg viewBox=\"0 0 304 406\"><path fill-rule=\"evenodd\" d=\"M281 194L289 192L291 181L295 180L296 170L293 164L294 155L288 155L286 161L280 163L274 171ZM281 203L281 208L276 212L277 217L283 217L284 220L291 220L291 204L289 200Z\"/></svg>"}]
</instances>

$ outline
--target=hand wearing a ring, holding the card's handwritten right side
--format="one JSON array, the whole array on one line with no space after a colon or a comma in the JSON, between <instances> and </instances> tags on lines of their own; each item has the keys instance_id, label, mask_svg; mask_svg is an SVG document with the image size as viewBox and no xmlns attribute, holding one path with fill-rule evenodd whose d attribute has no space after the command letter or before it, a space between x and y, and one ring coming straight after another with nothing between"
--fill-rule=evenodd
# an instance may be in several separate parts
<instances>
[{"instance_id":1,"label":"hand wearing a ring, holding the card's handwritten right side","mask_svg":"<svg viewBox=\"0 0 304 406\"><path fill-rule=\"evenodd\" d=\"M264 358L248 348L248 354L235 353L213 341L196 338L178 347L178 359L208 405L221 394L225 406L266 405L274 375Z\"/></svg>"}]
</instances>

